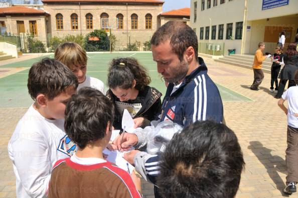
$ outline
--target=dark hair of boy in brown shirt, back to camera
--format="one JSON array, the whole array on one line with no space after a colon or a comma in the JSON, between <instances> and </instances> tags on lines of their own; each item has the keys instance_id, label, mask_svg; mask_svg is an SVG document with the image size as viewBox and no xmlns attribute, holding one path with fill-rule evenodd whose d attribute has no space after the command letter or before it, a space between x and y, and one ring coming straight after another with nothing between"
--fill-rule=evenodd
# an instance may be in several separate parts
<instances>
[{"instance_id":1,"label":"dark hair of boy in brown shirt, back to camera","mask_svg":"<svg viewBox=\"0 0 298 198\"><path fill-rule=\"evenodd\" d=\"M71 96L65 109L64 128L69 138L81 149L112 130L114 106L99 90L83 87Z\"/></svg>"}]
</instances>

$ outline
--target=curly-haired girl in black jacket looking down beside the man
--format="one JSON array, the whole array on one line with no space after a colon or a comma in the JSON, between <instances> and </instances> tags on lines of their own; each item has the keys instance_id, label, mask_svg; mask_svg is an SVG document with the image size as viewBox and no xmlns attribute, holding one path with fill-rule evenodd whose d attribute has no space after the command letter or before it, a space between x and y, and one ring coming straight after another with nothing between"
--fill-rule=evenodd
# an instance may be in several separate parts
<instances>
[{"instance_id":1,"label":"curly-haired girl in black jacket looking down beside the man","mask_svg":"<svg viewBox=\"0 0 298 198\"><path fill-rule=\"evenodd\" d=\"M113 59L108 72L109 90L106 96L115 108L113 127L121 130L124 109L130 113L134 128L150 126L161 114L162 93L148 86L151 78L134 58Z\"/></svg>"}]
</instances>

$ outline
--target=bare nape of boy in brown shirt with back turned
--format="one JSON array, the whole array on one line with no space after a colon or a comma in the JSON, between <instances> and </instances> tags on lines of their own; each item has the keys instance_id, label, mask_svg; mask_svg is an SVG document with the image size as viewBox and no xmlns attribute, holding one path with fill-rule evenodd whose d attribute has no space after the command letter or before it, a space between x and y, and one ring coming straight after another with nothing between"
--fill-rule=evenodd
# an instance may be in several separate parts
<instances>
[{"instance_id":1,"label":"bare nape of boy in brown shirt with back turned","mask_svg":"<svg viewBox=\"0 0 298 198\"><path fill-rule=\"evenodd\" d=\"M104 146L101 142L98 142L98 141L94 142L92 145L88 144L83 149L78 148L76 152L76 156L81 158L94 157L94 158L103 159L102 151L103 151L103 148L105 148L106 146Z\"/></svg>"}]
</instances>

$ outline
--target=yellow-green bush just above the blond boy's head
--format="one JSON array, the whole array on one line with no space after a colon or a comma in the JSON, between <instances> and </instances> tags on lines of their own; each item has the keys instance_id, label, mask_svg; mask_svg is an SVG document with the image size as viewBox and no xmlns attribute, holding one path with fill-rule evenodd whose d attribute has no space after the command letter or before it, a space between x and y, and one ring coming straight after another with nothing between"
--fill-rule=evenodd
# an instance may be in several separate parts
<instances>
[{"instance_id":1,"label":"yellow-green bush just above the blond boy's head","mask_svg":"<svg viewBox=\"0 0 298 198\"><path fill-rule=\"evenodd\" d=\"M55 36L49 40L49 46L51 48L51 51L54 52L57 49L57 47L64 42L74 42L79 44L82 48L85 47L85 38L81 34L66 35L65 37L62 37L62 38Z\"/></svg>"}]
</instances>

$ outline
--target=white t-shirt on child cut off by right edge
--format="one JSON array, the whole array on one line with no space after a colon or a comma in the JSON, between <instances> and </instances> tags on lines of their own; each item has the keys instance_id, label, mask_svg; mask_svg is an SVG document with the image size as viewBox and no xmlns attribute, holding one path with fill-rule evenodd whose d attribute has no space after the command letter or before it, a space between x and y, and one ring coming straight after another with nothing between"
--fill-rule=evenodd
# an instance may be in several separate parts
<instances>
[{"instance_id":1,"label":"white t-shirt on child cut off by right edge","mask_svg":"<svg viewBox=\"0 0 298 198\"><path fill-rule=\"evenodd\" d=\"M282 94L282 99L287 100L287 125L298 128L298 117L294 113L298 114L298 86L289 87Z\"/></svg>"}]
</instances>

